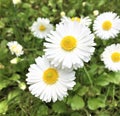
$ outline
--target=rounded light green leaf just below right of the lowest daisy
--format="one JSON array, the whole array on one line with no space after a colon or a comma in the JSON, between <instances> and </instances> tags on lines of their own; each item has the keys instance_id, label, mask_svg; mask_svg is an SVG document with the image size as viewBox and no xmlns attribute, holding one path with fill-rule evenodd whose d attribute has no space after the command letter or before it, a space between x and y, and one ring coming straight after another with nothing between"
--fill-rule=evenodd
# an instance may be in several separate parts
<instances>
[{"instance_id":1,"label":"rounded light green leaf just below right of the lowest daisy","mask_svg":"<svg viewBox=\"0 0 120 116\"><path fill-rule=\"evenodd\" d=\"M70 105L72 110L80 110L85 106L85 103L82 97L79 97L78 95L76 95L71 99Z\"/></svg>"}]
</instances>

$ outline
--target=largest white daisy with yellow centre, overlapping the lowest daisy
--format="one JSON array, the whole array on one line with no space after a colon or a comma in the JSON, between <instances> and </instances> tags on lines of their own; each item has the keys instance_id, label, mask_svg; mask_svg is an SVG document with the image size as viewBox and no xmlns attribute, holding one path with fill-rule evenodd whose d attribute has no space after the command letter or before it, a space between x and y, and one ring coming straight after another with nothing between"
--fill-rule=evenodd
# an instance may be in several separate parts
<instances>
[{"instance_id":1,"label":"largest white daisy with yellow centre, overlapping the lowest daisy","mask_svg":"<svg viewBox=\"0 0 120 116\"><path fill-rule=\"evenodd\" d=\"M95 50L94 35L77 22L60 23L46 41L45 55L52 65L62 69L83 67Z\"/></svg>"}]
</instances>

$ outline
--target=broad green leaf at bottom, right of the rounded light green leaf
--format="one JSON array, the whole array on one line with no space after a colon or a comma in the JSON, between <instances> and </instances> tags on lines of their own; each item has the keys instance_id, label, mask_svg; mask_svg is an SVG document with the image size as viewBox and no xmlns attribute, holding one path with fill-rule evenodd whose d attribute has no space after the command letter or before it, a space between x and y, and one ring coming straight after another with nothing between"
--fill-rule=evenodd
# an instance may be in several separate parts
<instances>
[{"instance_id":1,"label":"broad green leaf at bottom, right of the rounded light green leaf","mask_svg":"<svg viewBox=\"0 0 120 116\"><path fill-rule=\"evenodd\" d=\"M105 107L104 99L101 97L88 99L88 108L90 110L96 110L98 108Z\"/></svg>"}]
</instances>

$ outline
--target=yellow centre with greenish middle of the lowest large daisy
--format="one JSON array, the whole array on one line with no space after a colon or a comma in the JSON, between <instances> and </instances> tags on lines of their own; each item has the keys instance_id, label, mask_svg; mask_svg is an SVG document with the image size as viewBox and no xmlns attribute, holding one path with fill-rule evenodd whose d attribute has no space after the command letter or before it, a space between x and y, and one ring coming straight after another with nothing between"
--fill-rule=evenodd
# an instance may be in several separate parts
<instances>
[{"instance_id":1,"label":"yellow centre with greenish middle of the lowest large daisy","mask_svg":"<svg viewBox=\"0 0 120 116\"><path fill-rule=\"evenodd\" d=\"M43 81L46 84L52 85L58 80L58 72L54 68L48 68L43 73Z\"/></svg>"}]
</instances>

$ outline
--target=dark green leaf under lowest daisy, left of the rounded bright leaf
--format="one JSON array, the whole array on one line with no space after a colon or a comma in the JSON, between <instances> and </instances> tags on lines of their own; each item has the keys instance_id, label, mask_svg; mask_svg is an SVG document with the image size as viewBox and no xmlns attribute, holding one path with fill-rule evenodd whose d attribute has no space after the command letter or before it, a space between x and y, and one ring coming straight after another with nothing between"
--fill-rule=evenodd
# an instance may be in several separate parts
<instances>
[{"instance_id":1,"label":"dark green leaf under lowest daisy, left of the rounded bright leaf","mask_svg":"<svg viewBox=\"0 0 120 116\"><path fill-rule=\"evenodd\" d=\"M52 109L57 113L64 113L67 111L67 105L64 102L57 101L52 105Z\"/></svg>"}]
</instances>

